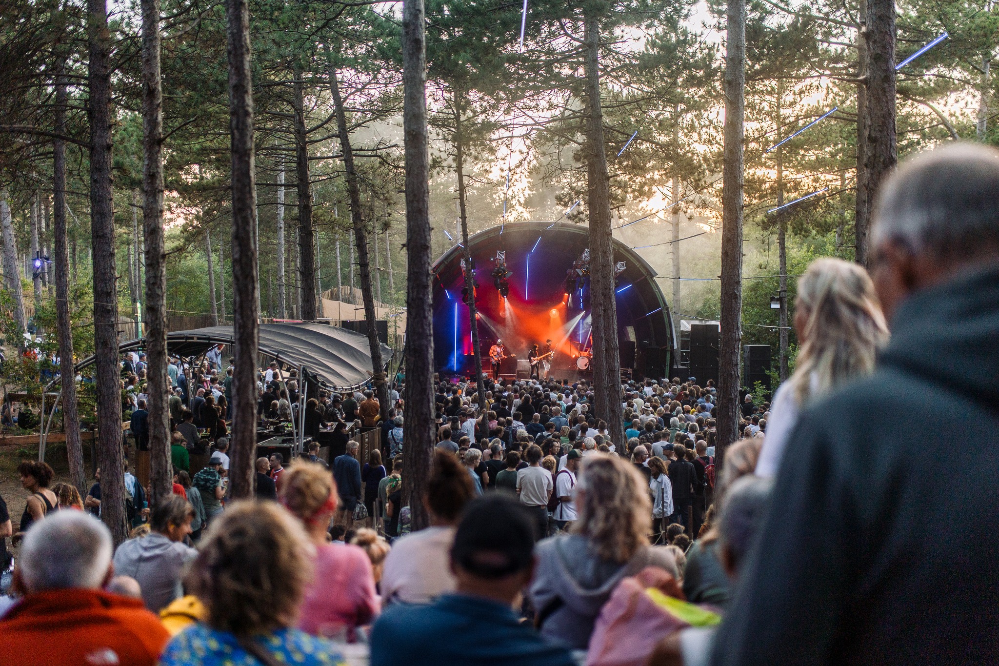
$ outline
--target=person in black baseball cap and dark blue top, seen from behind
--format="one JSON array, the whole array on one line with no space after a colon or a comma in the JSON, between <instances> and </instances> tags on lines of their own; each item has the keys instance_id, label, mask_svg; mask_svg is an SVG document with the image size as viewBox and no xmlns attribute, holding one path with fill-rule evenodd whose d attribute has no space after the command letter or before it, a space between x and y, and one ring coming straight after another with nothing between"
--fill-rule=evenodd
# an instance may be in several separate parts
<instances>
[{"instance_id":1,"label":"person in black baseball cap and dark blue top, seen from behind","mask_svg":"<svg viewBox=\"0 0 999 666\"><path fill-rule=\"evenodd\" d=\"M389 606L372 632L371 665L573 664L511 609L533 574L533 546L533 520L514 498L497 492L471 502L451 548L456 591L430 606Z\"/></svg>"}]
</instances>

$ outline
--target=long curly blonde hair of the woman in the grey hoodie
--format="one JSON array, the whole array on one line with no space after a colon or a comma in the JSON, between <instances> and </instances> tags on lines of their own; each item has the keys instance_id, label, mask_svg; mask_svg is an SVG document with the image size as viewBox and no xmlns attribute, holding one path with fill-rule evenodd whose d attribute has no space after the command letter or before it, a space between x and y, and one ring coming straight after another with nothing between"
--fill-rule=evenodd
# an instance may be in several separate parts
<instances>
[{"instance_id":1,"label":"long curly blonde hair of the woman in the grey hoodie","mask_svg":"<svg viewBox=\"0 0 999 666\"><path fill-rule=\"evenodd\" d=\"M621 457L593 455L583 460L572 531L589 537L600 559L623 564L648 545L652 505L644 486L635 466Z\"/></svg>"}]
</instances>

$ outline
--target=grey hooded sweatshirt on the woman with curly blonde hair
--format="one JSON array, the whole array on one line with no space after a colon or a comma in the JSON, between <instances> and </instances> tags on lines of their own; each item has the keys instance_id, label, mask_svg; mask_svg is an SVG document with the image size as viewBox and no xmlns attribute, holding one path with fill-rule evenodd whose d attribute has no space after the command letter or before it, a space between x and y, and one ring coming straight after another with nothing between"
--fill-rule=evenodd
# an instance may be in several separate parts
<instances>
[{"instance_id":1,"label":"grey hooded sweatshirt on the woman with curly blonde hair","mask_svg":"<svg viewBox=\"0 0 999 666\"><path fill-rule=\"evenodd\" d=\"M646 566L658 566L675 577L676 562L665 548L643 546L624 564L600 559L589 538L554 536L534 546L537 570L530 601L543 615L541 634L573 650L585 650L593 622L617 583Z\"/></svg>"}]
</instances>

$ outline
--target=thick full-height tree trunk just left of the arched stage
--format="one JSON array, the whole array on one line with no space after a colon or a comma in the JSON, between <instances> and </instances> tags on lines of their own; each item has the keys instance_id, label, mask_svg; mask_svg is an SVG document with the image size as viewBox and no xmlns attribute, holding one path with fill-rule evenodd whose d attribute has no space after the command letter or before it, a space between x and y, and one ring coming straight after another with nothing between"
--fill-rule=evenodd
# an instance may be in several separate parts
<instances>
[{"instance_id":1,"label":"thick full-height tree trunk just left of the arched stage","mask_svg":"<svg viewBox=\"0 0 999 666\"><path fill-rule=\"evenodd\" d=\"M404 501L413 529L430 525L423 497L434 427L434 315L431 300L430 165L427 150L427 42L424 0L403 2L403 134L406 142L406 429Z\"/></svg>"}]
</instances>

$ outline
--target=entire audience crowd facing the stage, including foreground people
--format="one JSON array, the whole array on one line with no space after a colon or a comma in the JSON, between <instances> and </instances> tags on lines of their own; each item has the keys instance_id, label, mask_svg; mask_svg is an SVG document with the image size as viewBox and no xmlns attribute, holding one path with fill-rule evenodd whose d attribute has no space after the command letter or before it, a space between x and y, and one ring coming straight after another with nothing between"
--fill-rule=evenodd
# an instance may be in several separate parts
<instances>
[{"instance_id":1,"label":"entire audience crowd facing the stage, including foreground people","mask_svg":"<svg viewBox=\"0 0 999 666\"><path fill-rule=\"evenodd\" d=\"M772 403L740 397L735 441L710 381L622 382L608 427L584 381L458 377L436 386L423 496L404 496L404 400L386 421L365 391L306 403L342 455L262 457L257 498L230 501L220 401L195 395L206 425L178 395L175 494L145 506L126 468L136 529L117 549L99 483L82 499L25 462L16 531L0 500L20 543L0 666L991 663L997 192L989 149L900 168L871 273L823 259L800 277L794 371ZM268 368L262 412L294 415L298 390ZM356 421L381 447L349 438ZM192 438L212 450L193 475ZM928 496L953 518L935 532Z\"/></svg>"}]
</instances>

